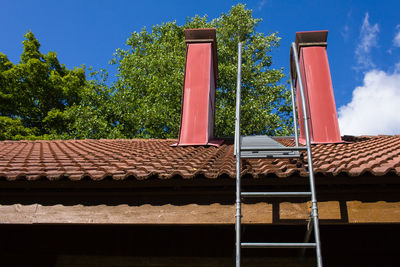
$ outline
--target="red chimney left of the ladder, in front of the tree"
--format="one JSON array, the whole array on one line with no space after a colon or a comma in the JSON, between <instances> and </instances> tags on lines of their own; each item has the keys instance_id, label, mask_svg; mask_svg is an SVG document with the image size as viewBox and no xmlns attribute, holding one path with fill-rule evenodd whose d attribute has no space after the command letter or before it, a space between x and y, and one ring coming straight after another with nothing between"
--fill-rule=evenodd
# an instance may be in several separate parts
<instances>
[{"instance_id":1,"label":"red chimney left of the ladder, in front of the tree","mask_svg":"<svg viewBox=\"0 0 400 267\"><path fill-rule=\"evenodd\" d=\"M215 29L185 30L186 65L178 146L214 145L218 77Z\"/></svg>"}]
</instances>

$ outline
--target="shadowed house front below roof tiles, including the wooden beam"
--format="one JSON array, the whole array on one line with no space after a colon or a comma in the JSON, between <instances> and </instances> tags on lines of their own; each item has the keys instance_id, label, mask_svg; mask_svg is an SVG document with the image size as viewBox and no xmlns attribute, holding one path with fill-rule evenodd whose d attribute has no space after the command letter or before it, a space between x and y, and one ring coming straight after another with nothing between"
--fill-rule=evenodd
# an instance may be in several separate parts
<instances>
[{"instance_id":1,"label":"shadowed house front below roof tiles, including the wooden beam","mask_svg":"<svg viewBox=\"0 0 400 267\"><path fill-rule=\"evenodd\" d=\"M399 184L357 179L318 184L324 266L397 266ZM244 190L305 186L260 180ZM233 266L234 181L179 181L0 181L0 266ZM243 238L301 242L308 207L246 200ZM298 265L298 250L244 249L243 266L314 266L308 253Z\"/></svg>"}]
</instances>

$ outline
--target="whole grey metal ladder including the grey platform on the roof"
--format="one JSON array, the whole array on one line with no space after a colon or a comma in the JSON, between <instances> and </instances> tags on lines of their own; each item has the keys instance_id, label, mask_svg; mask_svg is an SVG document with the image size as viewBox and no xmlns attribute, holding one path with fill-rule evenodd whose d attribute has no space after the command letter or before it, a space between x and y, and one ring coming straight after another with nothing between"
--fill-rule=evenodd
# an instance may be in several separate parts
<instances>
[{"instance_id":1,"label":"whole grey metal ladder including the grey platform on the roof","mask_svg":"<svg viewBox=\"0 0 400 267\"><path fill-rule=\"evenodd\" d=\"M306 248L315 248L317 266L322 267L321 244L319 238L319 220L317 198L314 183L314 170L311 153L310 132L308 127L308 116L305 95L303 90L302 77L300 74L300 67L297 57L296 44L291 45L291 57L294 57L295 69L297 73L300 97L302 102L302 109L304 114L304 126L306 136L306 146L299 146L297 134L297 117L296 107L294 103L294 89L293 89L293 75L292 66L290 66L290 89L292 94L292 108L293 108L293 123L295 130L294 147L285 147L274 139L268 136L241 136L240 134L240 105L241 105L241 53L242 44L238 44L238 73L237 73L237 91L236 91L236 118L235 118L235 156L236 156L236 267L240 267L241 261L241 248L301 248L302 254ZM290 64L292 65L292 60ZM293 158L300 157L300 152L307 153L308 159L308 173L310 181L310 192L241 192L241 159L246 158ZM303 243L251 243L241 241L241 199L245 197L310 197L311 198L311 214L310 220L307 225ZM311 232L314 230L315 242L310 243L309 239Z\"/></svg>"}]
</instances>

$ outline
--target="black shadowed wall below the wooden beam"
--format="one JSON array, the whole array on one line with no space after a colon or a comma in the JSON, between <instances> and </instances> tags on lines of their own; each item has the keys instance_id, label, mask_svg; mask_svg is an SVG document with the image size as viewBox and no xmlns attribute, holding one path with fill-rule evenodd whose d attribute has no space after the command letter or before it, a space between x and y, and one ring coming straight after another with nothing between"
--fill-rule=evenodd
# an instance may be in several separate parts
<instances>
[{"instance_id":1,"label":"black shadowed wall below the wooden beam","mask_svg":"<svg viewBox=\"0 0 400 267\"><path fill-rule=\"evenodd\" d=\"M303 226L244 227L248 241L299 241ZM234 266L234 227L0 225L1 266ZM400 224L322 225L324 266L398 266ZM314 251L243 249L243 266L315 266Z\"/></svg>"}]
</instances>

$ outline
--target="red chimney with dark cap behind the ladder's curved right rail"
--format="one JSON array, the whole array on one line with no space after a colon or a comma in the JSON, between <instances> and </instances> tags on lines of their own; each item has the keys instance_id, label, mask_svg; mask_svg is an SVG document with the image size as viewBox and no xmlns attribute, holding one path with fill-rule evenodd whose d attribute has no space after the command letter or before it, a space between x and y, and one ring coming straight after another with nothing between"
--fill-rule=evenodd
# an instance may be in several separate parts
<instances>
[{"instance_id":1,"label":"red chimney with dark cap behind the ladder's curved right rail","mask_svg":"<svg viewBox=\"0 0 400 267\"><path fill-rule=\"evenodd\" d=\"M295 39L313 144L342 142L326 53L327 37L328 31L310 31L296 32ZM304 116L297 78L296 90L299 141L305 144Z\"/></svg>"}]
</instances>

